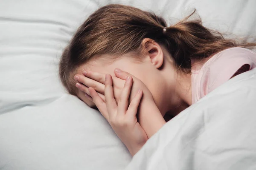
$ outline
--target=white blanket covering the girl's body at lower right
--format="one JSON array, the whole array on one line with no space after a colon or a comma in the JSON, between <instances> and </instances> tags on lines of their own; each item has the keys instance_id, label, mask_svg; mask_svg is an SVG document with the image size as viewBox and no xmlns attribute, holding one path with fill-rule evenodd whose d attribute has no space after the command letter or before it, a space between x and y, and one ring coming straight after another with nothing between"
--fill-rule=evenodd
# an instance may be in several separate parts
<instances>
[{"instance_id":1,"label":"white blanket covering the girl's body at lower right","mask_svg":"<svg viewBox=\"0 0 256 170\"><path fill-rule=\"evenodd\" d=\"M169 121L127 170L256 170L256 69Z\"/></svg>"}]
</instances>

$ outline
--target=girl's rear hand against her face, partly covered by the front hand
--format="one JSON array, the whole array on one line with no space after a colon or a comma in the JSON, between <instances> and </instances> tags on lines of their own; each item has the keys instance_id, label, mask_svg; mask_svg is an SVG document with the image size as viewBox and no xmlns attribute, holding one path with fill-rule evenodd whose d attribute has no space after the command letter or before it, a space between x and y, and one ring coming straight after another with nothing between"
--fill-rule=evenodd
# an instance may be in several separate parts
<instances>
[{"instance_id":1,"label":"girl's rear hand against her face, partly covered by the front hand","mask_svg":"<svg viewBox=\"0 0 256 170\"><path fill-rule=\"evenodd\" d=\"M91 99L90 91L88 90L88 87L93 87L98 92L98 95L102 98L103 101L105 101L105 74L102 73L96 73L93 71L87 71L86 73L83 73L86 77L82 75L76 75L78 79L76 79L76 76L74 77L76 80L78 80L79 83L79 89L81 91L84 91L87 95L87 97ZM133 87L131 90L130 98L132 99L134 95L136 94L136 91L139 89L143 90L143 99L141 99L140 109L138 111L138 118L140 125L145 130L148 138L150 138L154 133L156 133L166 122L163 119L162 114L160 113L159 109L157 108L156 104L154 103L154 99L152 97L151 92L148 90L148 88L145 86L145 84L140 80L134 77L133 75L121 71L120 69L115 69L115 75L116 77L113 77L113 93L114 97L116 99L116 102L119 101L121 90L123 85L122 82L124 82L125 79L127 79L128 76L133 77ZM119 77L119 78L118 78ZM116 81L116 85L114 85L114 79ZM82 83L82 84L81 84ZM90 96L89 96L90 95Z\"/></svg>"}]
</instances>

